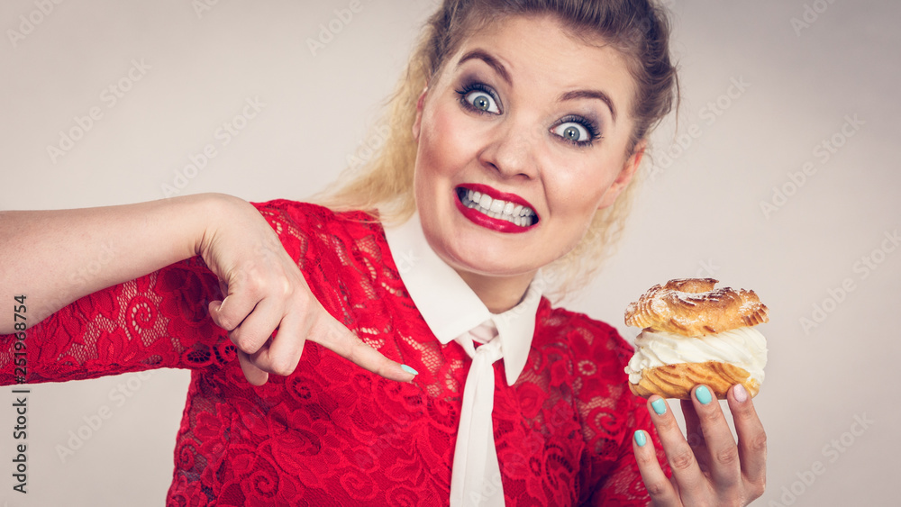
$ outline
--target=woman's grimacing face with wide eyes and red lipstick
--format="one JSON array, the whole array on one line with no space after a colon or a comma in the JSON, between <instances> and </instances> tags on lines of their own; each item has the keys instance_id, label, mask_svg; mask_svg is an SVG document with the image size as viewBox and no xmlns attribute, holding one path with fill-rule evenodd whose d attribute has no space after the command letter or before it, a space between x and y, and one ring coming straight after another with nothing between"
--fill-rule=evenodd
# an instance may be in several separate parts
<instances>
[{"instance_id":1,"label":"woman's grimacing face with wide eyes and red lipstick","mask_svg":"<svg viewBox=\"0 0 901 507\"><path fill-rule=\"evenodd\" d=\"M551 17L511 17L463 41L423 92L416 204L432 249L468 282L531 280L638 166L633 79L596 42Z\"/></svg>"}]
</instances>

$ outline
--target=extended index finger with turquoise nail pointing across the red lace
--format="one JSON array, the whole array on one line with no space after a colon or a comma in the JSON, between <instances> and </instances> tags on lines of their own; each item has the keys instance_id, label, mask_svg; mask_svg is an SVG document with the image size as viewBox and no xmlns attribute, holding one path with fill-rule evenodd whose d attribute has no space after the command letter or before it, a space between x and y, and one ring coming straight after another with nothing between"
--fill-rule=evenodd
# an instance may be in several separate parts
<instances>
[{"instance_id":1,"label":"extended index finger with turquoise nail pointing across the red lace","mask_svg":"<svg viewBox=\"0 0 901 507\"><path fill-rule=\"evenodd\" d=\"M383 356L378 350L369 347L363 340L336 321L324 309L318 312L312 328L306 337L335 354L350 360L351 363L367 369L372 373L398 382L410 382L416 376L416 370Z\"/></svg>"}]
</instances>

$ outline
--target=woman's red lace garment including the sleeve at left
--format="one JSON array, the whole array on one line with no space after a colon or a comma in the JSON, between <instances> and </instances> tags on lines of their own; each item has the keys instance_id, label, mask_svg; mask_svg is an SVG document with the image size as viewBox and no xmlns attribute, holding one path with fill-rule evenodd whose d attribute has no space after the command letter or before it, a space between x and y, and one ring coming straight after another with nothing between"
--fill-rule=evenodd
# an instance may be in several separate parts
<instances>
[{"instance_id":1,"label":"woman's red lace garment including the sleeve at left","mask_svg":"<svg viewBox=\"0 0 901 507\"><path fill-rule=\"evenodd\" d=\"M378 223L311 204L255 204L323 306L420 372L385 380L307 342L296 372L249 385L207 314L221 299L199 258L88 295L28 331L29 383L192 370L167 504L447 505L470 359L406 294ZM13 336L0 383L14 384ZM631 347L542 300L523 374L495 364L495 442L508 505L644 505L632 435L656 435L626 387ZM660 449L659 443L655 445ZM662 455L660 455L662 461Z\"/></svg>"}]
</instances>

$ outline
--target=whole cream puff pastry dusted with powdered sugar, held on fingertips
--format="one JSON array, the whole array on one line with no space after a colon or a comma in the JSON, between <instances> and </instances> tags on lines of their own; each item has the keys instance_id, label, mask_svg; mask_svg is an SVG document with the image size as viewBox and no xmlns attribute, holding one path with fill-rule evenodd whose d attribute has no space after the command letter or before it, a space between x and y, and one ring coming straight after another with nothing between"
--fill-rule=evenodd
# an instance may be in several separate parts
<instances>
[{"instance_id":1,"label":"whole cream puff pastry dusted with powdered sugar, held on fingertips","mask_svg":"<svg viewBox=\"0 0 901 507\"><path fill-rule=\"evenodd\" d=\"M758 393L767 340L753 326L769 321L768 309L753 291L714 289L717 283L670 280L629 304L625 323L642 328L625 368L633 393L687 400L702 384L720 399L735 384Z\"/></svg>"}]
</instances>

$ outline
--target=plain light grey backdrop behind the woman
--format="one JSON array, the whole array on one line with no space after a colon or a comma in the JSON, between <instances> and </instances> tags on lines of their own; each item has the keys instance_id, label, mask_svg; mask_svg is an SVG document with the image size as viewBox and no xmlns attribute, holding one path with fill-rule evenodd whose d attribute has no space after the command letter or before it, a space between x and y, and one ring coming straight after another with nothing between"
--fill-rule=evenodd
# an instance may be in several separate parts
<instances>
[{"instance_id":1,"label":"plain light grey backdrop behind the woman","mask_svg":"<svg viewBox=\"0 0 901 507\"><path fill-rule=\"evenodd\" d=\"M216 157L181 194L303 200L378 142L368 131L433 6L362 0L314 54L308 39L349 1L219 0L199 13L197 4L64 2L46 15L34 14L32 0L0 5L0 209L161 198L207 144ZM684 92L678 130L670 118L655 135L619 253L568 304L632 338L623 308L653 284L714 276L755 289L771 310L760 328L767 380L755 400L769 434L769 488L756 504L894 504L901 251L884 240L901 228L901 177L889 151L901 133L901 6L668 4ZM20 16L40 23L12 41ZM150 68L112 104L103 91L128 76L132 59ZM232 142L216 139L254 97L262 111ZM717 102L719 115L709 105ZM51 160L48 145L92 107L103 117ZM862 122L845 127L851 137L841 133L846 117ZM822 143L833 137L842 146L826 158ZM815 173L793 188L790 174L807 162ZM791 195L764 213L774 187ZM864 258L877 269L863 268ZM842 296L843 283L853 290ZM815 305L830 310L824 319ZM821 322L805 330L802 319L815 316ZM162 504L187 379L166 370L33 386L27 496L11 489L14 400L4 388L0 502ZM111 395L119 388L132 396ZM61 460L69 431L104 406L112 416Z\"/></svg>"}]
</instances>

